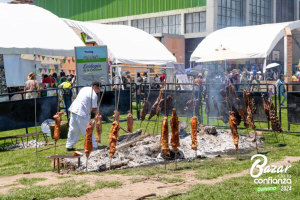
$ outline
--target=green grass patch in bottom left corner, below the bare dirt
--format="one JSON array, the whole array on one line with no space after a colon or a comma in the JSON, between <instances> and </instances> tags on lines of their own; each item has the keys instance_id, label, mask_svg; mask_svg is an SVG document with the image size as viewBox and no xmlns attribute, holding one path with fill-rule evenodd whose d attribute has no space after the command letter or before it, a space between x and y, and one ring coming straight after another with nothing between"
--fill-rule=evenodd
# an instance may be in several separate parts
<instances>
[{"instance_id":1,"label":"green grass patch in bottom left corner, below the bare dirt","mask_svg":"<svg viewBox=\"0 0 300 200\"><path fill-rule=\"evenodd\" d=\"M93 185L87 183L87 180L67 180L58 184L50 185L31 185L26 188L14 188L7 194L0 194L1 200L27 200L27 199L51 199L57 197L77 197L88 192L104 187L115 188L121 186L119 181L97 180Z\"/></svg>"}]
</instances>

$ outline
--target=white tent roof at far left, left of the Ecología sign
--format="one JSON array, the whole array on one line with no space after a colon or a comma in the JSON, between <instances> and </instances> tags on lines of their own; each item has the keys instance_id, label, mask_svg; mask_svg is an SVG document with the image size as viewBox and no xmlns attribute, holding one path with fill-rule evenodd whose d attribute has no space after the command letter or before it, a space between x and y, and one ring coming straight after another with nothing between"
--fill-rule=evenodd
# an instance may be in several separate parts
<instances>
[{"instance_id":1,"label":"white tent roof at far left, left of the Ecolog\u00eda sign","mask_svg":"<svg viewBox=\"0 0 300 200\"><path fill-rule=\"evenodd\" d=\"M58 16L29 4L0 3L0 54L74 56L84 43Z\"/></svg>"}]
</instances>

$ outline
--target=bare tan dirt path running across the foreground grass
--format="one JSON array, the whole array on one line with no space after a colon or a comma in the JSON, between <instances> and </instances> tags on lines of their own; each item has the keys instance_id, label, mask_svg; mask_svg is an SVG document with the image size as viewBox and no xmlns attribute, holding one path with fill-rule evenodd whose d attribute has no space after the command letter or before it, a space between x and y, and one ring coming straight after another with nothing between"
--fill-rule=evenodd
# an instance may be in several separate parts
<instances>
[{"instance_id":1,"label":"bare tan dirt path running across the foreground grass","mask_svg":"<svg viewBox=\"0 0 300 200\"><path fill-rule=\"evenodd\" d=\"M290 157L286 156L284 159L273 162L271 164L274 165L287 165L290 162L298 161L300 160L300 156ZM97 189L93 192L87 193L80 197L63 197L63 198L55 198L57 199L67 199L67 200L79 200L79 199L136 199L140 196L149 194L149 193L155 193L156 195L160 196L168 196L170 193L175 192L184 192L189 189L190 185L194 184L214 184L217 182L221 182L223 180L226 180L231 177L240 177L243 175L249 174L249 169L243 170L239 173L233 173L233 174L226 174L222 177L217 177L214 179L197 179L193 174L195 171L193 170L187 170L180 172L180 176L183 177L183 182L162 182L162 181L156 181L155 179L158 178L158 176L153 177L146 177L146 176L123 176L123 175L111 175L111 174L104 174L104 175L94 175L94 174L78 174L78 175L71 175L71 177L67 178L57 178L57 176L61 176L55 172L41 172L41 173L30 173L30 174L18 174L14 176L9 177L0 177L0 193L7 193L9 192L9 189L14 187L25 187L25 185L19 184L16 182L17 179L22 177L44 177L47 178L44 181L35 183L39 185L47 185L52 183L60 183L64 182L68 179L76 179L76 180L83 180L86 179L88 182L95 182L96 180L110 180L110 181L121 181L123 184L121 187L118 188L103 188L103 189ZM63 174L63 176L66 176L69 174ZM171 175L163 175L163 177L172 177L176 174ZM133 182L132 178L141 178L144 179L140 182ZM11 185L12 184L12 185ZM163 187L161 187L163 186ZM161 187L161 188L157 188Z\"/></svg>"}]
</instances>

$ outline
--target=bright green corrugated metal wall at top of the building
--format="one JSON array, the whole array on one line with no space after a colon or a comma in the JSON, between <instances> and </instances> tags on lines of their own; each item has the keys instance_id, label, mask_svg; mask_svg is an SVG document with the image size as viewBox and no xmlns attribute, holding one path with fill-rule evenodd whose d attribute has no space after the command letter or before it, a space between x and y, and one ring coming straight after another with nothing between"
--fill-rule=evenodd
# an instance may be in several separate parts
<instances>
[{"instance_id":1,"label":"bright green corrugated metal wall at top of the building","mask_svg":"<svg viewBox=\"0 0 300 200\"><path fill-rule=\"evenodd\" d=\"M80 21L206 5L206 0L34 0L59 17Z\"/></svg>"}]
</instances>

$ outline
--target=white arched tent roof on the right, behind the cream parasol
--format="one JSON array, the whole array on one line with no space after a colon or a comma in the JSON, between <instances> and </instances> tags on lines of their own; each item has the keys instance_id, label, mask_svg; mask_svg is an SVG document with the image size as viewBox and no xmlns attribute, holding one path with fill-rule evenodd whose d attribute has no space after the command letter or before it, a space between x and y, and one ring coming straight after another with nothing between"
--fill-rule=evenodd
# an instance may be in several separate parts
<instances>
[{"instance_id":1,"label":"white arched tent roof on the right, behind the cream parasol","mask_svg":"<svg viewBox=\"0 0 300 200\"><path fill-rule=\"evenodd\" d=\"M300 27L300 20L283 23L268 23L241 27L226 27L205 37L190 56L195 61L222 44L226 48L262 58L270 54L277 42L284 36L284 27L291 30Z\"/></svg>"}]
</instances>

